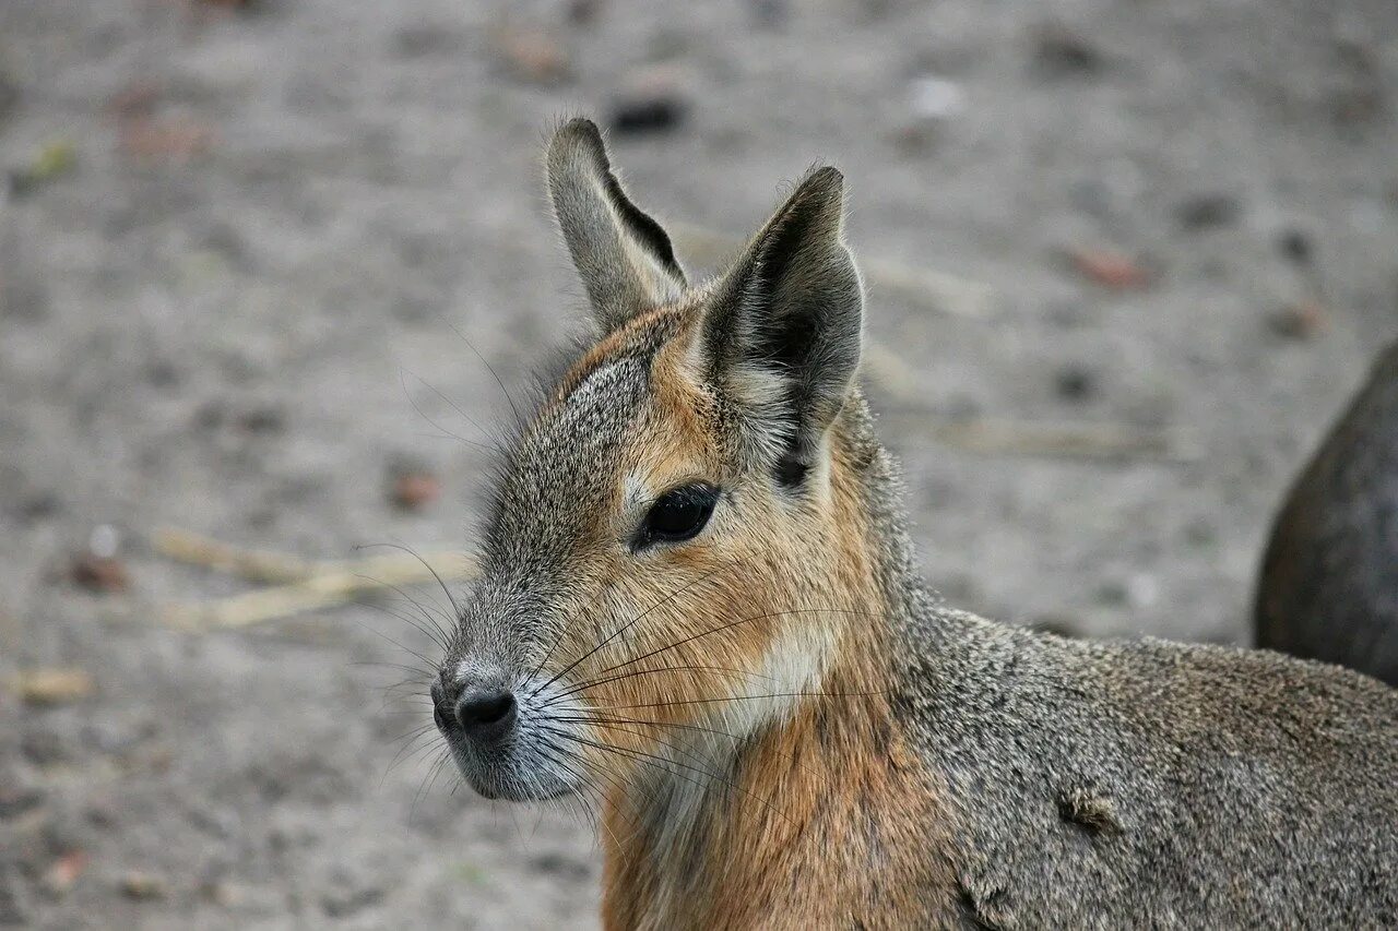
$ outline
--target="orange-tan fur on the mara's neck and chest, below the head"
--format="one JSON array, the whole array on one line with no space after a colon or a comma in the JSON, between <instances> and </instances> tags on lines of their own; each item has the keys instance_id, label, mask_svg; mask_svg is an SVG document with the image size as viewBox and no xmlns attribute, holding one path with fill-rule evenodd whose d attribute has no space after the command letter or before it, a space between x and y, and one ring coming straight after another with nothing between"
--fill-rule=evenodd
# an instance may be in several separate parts
<instances>
[{"instance_id":1,"label":"orange-tan fur on the mara's neck and chest, below the head","mask_svg":"<svg viewBox=\"0 0 1398 931\"><path fill-rule=\"evenodd\" d=\"M826 558L809 572L839 611L819 685L749 738L689 734L672 773L639 766L610 793L608 928L879 927L945 914L945 902L909 900L952 885L937 853L945 837L927 836L944 822L941 788L888 702L888 605L871 556L881 548L850 445L832 436ZM714 714L712 727L723 721ZM888 833L914 826L921 839Z\"/></svg>"}]
</instances>

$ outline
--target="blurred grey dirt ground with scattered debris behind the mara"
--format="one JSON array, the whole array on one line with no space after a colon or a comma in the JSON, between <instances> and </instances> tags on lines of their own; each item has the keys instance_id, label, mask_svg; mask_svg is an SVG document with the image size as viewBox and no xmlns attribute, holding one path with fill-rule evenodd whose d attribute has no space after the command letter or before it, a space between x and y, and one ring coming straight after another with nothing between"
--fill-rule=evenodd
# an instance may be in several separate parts
<instances>
[{"instance_id":1,"label":"blurred grey dirt ground with scattered debris behind the mara","mask_svg":"<svg viewBox=\"0 0 1398 931\"><path fill-rule=\"evenodd\" d=\"M433 783L431 744L390 767L426 710L362 664L432 656L394 600L172 630L250 586L150 538L468 549L488 452L436 425L482 442L481 356L519 393L576 320L540 143L624 98L675 105L612 137L658 217L742 233L832 159L860 256L993 288L966 315L871 277L949 601L1247 642L1272 507L1398 335L1391 0L509 7L0 4L0 678L91 677L0 692L0 921L594 925L586 822ZM976 452L931 429L958 418L1176 456ZM442 482L418 510L405 463ZM113 544L126 587L75 583Z\"/></svg>"}]
</instances>

